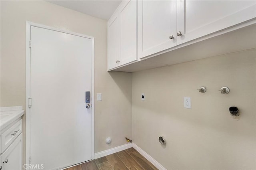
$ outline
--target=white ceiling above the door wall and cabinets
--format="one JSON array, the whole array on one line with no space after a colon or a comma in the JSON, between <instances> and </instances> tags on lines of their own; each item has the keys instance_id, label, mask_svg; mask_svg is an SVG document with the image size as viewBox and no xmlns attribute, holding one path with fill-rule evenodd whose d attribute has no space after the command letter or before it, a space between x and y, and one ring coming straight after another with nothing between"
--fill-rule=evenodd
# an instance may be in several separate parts
<instances>
[{"instance_id":1,"label":"white ceiling above the door wall and cabinets","mask_svg":"<svg viewBox=\"0 0 256 170\"><path fill-rule=\"evenodd\" d=\"M121 0L47 0L47 2L108 20Z\"/></svg>"}]
</instances>

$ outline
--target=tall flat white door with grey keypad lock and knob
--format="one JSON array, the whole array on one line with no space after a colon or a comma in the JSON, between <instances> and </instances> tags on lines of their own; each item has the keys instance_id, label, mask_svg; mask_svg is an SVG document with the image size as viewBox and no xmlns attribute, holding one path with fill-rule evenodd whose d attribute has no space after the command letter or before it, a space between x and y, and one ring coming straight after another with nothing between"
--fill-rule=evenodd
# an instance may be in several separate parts
<instances>
[{"instance_id":1,"label":"tall flat white door with grey keypad lock and knob","mask_svg":"<svg viewBox=\"0 0 256 170\"><path fill-rule=\"evenodd\" d=\"M34 26L30 36L31 164L50 170L91 160L92 39Z\"/></svg>"}]
</instances>

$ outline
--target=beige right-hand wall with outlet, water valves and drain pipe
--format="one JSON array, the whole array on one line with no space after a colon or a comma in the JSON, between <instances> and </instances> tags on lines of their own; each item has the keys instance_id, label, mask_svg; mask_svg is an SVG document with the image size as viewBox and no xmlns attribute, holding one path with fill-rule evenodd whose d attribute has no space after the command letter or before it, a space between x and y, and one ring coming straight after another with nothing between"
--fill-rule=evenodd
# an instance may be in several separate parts
<instances>
[{"instance_id":1,"label":"beige right-hand wall with outlet, water valves and drain pipe","mask_svg":"<svg viewBox=\"0 0 256 170\"><path fill-rule=\"evenodd\" d=\"M251 49L132 73L133 142L169 170L255 169L255 56Z\"/></svg>"}]
</instances>

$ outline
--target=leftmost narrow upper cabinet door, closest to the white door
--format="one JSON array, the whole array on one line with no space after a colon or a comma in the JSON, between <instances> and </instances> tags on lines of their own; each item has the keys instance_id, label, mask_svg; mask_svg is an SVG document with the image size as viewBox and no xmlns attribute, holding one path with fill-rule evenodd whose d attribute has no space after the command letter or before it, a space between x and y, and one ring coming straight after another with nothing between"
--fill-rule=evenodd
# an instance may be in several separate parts
<instances>
[{"instance_id":1,"label":"leftmost narrow upper cabinet door, closest to the white door","mask_svg":"<svg viewBox=\"0 0 256 170\"><path fill-rule=\"evenodd\" d=\"M120 56L120 19L112 17L108 21L108 69L117 67Z\"/></svg>"}]
</instances>

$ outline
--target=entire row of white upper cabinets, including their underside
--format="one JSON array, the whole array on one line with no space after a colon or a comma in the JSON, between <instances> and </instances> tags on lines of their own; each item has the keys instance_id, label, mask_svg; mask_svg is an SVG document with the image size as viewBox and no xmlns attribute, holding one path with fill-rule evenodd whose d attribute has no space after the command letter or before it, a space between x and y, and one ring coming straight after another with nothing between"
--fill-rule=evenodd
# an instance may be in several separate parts
<instances>
[{"instance_id":1,"label":"entire row of white upper cabinets, including their underside","mask_svg":"<svg viewBox=\"0 0 256 170\"><path fill-rule=\"evenodd\" d=\"M253 28L250 33L241 34L239 30L255 24L256 0L123 0L108 21L108 71L138 71L140 67L149 69L206 57L208 51L200 47L183 51L201 41L214 44L214 50L219 51L214 55L250 49L255 47L255 38L248 40L247 34L253 36ZM241 36L250 45L244 45ZM230 47L230 42L236 45ZM161 60L159 55L170 51L172 55L166 54ZM150 67L145 66L146 60L152 62Z\"/></svg>"}]
</instances>

